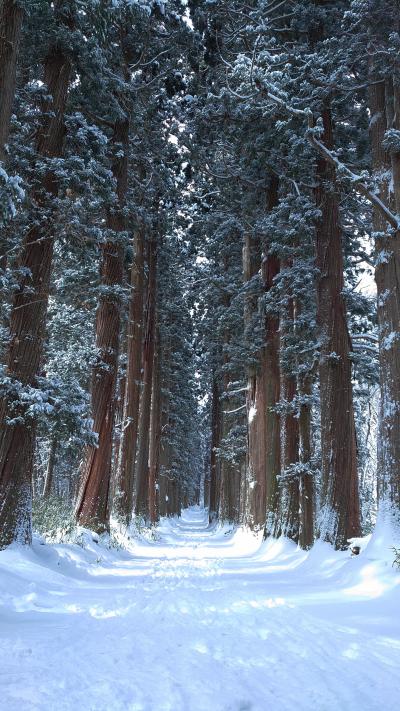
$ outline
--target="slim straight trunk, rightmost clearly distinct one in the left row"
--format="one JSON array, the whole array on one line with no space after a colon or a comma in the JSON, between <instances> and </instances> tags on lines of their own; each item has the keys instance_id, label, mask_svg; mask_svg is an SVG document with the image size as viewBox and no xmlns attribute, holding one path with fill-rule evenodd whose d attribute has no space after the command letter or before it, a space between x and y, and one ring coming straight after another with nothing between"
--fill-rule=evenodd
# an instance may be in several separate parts
<instances>
[{"instance_id":1,"label":"slim straight trunk, rightmost clearly distinct one in the left row","mask_svg":"<svg viewBox=\"0 0 400 711\"><path fill-rule=\"evenodd\" d=\"M160 381L160 334L156 329L153 364L153 382L151 388L151 417L149 442L149 513L150 523L159 518L159 465L161 437L161 381Z\"/></svg>"}]
</instances>

